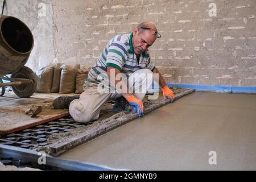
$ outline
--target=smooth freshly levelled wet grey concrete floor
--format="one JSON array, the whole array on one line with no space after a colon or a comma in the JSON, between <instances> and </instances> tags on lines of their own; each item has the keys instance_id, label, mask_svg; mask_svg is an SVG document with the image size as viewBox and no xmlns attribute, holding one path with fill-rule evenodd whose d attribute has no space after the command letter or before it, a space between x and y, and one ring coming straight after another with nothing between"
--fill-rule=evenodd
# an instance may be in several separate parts
<instances>
[{"instance_id":1,"label":"smooth freshly levelled wet grey concrete floor","mask_svg":"<svg viewBox=\"0 0 256 182\"><path fill-rule=\"evenodd\" d=\"M252 94L193 93L60 157L115 169L255 170L255 110Z\"/></svg>"}]
</instances>

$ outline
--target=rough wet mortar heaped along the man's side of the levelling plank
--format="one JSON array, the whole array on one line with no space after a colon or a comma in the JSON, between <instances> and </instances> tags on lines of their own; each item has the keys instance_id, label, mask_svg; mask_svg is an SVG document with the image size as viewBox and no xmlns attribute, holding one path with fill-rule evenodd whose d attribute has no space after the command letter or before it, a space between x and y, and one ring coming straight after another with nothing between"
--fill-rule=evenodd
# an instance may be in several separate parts
<instances>
[{"instance_id":1,"label":"rough wet mortar heaped along the man's side of the levelling plank","mask_svg":"<svg viewBox=\"0 0 256 182\"><path fill-rule=\"evenodd\" d=\"M171 89L174 91L175 94L183 93L186 90L188 90L188 89L181 89L181 88L177 88L177 87L173 87ZM145 97L144 100L143 100L144 107L145 107L145 109L147 109L147 107L154 107L155 105L159 105L161 102L163 102L163 100L164 100L164 98L163 98L162 92L159 92L159 97L158 97L157 100L148 100L148 98ZM101 110L100 118L97 121L94 121L92 123L92 125L78 127L78 128L73 129L71 131L68 131L67 133L53 134L48 138L48 145L47 146L36 147L34 149L36 149L38 151L46 151L49 154L49 152L50 152L49 147L53 143L63 142L63 141L65 141L65 140L67 140L71 137L76 137L77 135L79 135L81 133L85 133L86 131L92 130L92 129L97 128L97 127L100 127L104 123L112 122L112 121L114 121L115 119L118 119L118 118L119 119L120 118L125 119L125 118L129 118L129 117L133 117L132 113L125 113L125 112L115 113L112 109L113 104L114 104L114 101L109 101L108 103L106 103L104 105L103 109Z\"/></svg>"}]
</instances>

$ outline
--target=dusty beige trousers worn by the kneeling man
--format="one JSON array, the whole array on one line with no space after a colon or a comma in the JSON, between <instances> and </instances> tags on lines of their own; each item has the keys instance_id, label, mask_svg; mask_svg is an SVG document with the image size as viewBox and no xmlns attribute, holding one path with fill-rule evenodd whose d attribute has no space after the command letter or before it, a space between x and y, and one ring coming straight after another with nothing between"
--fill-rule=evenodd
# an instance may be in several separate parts
<instances>
[{"instance_id":1,"label":"dusty beige trousers worn by the kneeling man","mask_svg":"<svg viewBox=\"0 0 256 182\"><path fill-rule=\"evenodd\" d=\"M127 78L126 78L127 79ZM147 90L152 85L154 73L149 69L139 69L128 77L128 88L139 100L143 100ZM99 118L100 111L108 100L122 97L116 90L102 92L98 84L92 82L85 84L85 91L79 100L73 100L69 105L69 113L76 122L90 122Z\"/></svg>"}]
</instances>

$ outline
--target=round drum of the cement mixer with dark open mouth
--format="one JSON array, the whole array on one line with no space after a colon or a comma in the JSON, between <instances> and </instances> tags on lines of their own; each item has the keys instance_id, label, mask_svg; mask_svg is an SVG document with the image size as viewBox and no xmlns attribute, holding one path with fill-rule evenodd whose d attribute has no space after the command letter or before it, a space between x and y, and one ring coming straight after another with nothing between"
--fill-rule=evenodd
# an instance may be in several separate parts
<instances>
[{"instance_id":1,"label":"round drum of the cement mixer with dark open mouth","mask_svg":"<svg viewBox=\"0 0 256 182\"><path fill-rule=\"evenodd\" d=\"M34 46L29 28L18 18L0 15L0 77L27 63Z\"/></svg>"}]
</instances>

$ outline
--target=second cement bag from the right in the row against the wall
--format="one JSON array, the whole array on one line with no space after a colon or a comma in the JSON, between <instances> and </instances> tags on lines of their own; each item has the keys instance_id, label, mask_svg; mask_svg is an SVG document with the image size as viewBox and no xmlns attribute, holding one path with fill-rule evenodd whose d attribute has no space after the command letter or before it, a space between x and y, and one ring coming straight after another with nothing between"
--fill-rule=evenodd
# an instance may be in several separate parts
<instances>
[{"instance_id":1,"label":"second cement bag from the right in the row against the wall","mask_svg":"<svg viewBox=\"0 0 256 182\"><path fill-rule=\"evenodd\" d=\"M80 68L79 64L75 67L71 65L62 65L60 76L60 94L74 93L76 90L76 73Z\"/></svg>"}]
</instances>

